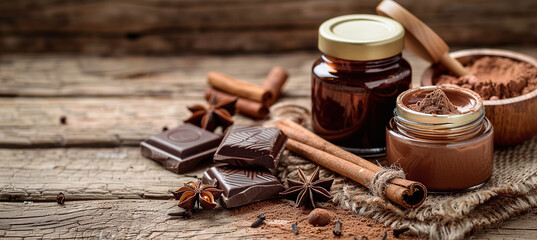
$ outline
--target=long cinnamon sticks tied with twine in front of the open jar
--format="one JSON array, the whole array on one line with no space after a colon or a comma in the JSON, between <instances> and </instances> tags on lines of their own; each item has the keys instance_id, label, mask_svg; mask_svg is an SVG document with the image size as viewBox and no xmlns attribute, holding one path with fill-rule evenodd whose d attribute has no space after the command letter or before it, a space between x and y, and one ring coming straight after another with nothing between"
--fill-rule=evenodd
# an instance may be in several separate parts
<instances>
[{"instance_id":1,"label":"long cinnamon sticks tied with twine in front of the open jar","mask_svg":"<svg viewBox=\"0 0 537 240\"><path fill-rule=\"evenodd\" d=\"M289 150L367 188L370 187L375 174L383 170L382 167L341 149L291 120L279 121L276 128L289 137L286 145ZM394 178L387 182L384 195L400 206L415 208L425 201L427 188L419 182Z\"/></svg>"}]
</instances>

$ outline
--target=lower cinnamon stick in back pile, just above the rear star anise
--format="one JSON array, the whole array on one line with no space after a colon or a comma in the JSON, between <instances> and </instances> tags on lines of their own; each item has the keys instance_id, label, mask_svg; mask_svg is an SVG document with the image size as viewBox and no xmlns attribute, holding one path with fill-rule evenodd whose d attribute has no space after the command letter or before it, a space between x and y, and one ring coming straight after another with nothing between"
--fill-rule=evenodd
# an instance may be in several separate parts
<instances>
[{"instance_id":1,"label":"lower cinnamon stick in back pile, just above the rear star anise","mask_svg":"<svg viewBox=\"0 0 537 240\"><path fill-rule=\"evenodd\" d=\"M235 96L229 95L227 93L218 91L214 88L207 88L205 90L205 99L209 101L211 95L216 98L216 101L221 101L224 98L234 98ZM261 103L250 101L248 99L240 98L235 104L235 108L242 114L253 117L253 118L263 118L269 113L269 109Z\"/></svg>"}]
</instances>

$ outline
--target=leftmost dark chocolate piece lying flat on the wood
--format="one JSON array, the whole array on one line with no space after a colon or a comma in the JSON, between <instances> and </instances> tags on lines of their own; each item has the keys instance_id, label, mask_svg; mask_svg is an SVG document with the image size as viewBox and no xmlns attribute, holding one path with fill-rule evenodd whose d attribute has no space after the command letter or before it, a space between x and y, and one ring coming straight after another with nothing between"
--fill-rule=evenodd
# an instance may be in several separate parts
<instances>
[{"instance_id":1,"label":"leftmost dark chocolate piece lying flat on the wood","mask_svg":"<svg viewBox=\"0 0 537 240\"><path fill-rule=\"evenodd\" d=\"M161 163L174 173L183 173L212 157L221 140L212 132L186 123L150 137L140 147L144 157Z\"/></svg>"}]
</instances>

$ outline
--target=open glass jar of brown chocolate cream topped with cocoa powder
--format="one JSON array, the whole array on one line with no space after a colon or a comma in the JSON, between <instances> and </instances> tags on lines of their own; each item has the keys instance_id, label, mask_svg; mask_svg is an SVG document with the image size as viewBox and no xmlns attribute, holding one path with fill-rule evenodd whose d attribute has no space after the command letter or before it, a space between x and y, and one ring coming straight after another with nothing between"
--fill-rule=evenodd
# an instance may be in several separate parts
<instances>
[{"instance_id":1,"label":"open glass jar of brown chocolate cream topped with cocoa powder","mask_svg":"<svg viewBox=\"0 0 537 240\"><path fill-rule=\"evenodd\" d=\"M455 87L401 93L386 128L386 157L432 191L479 187L491 176L494 157L483 100Z\"/></svg>"}]
</instances>

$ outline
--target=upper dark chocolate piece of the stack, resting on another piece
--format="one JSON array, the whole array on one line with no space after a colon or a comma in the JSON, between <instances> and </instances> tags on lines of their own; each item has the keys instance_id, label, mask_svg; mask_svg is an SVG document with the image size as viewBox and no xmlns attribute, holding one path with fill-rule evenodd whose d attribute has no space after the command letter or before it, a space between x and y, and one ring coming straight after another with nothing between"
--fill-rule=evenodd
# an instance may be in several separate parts
<instances>
[{"instance_id":1,"label":"upper dark chocolate piece of the stack, resting on another piece","mask_svg":"<svg viewBox=\"0 0 537 240\"><path fill-rule=\"evenodd\" d=\"M287 136L276 128L234 126L214 155L215 162L275 169Z\"/></svg>"}]
</instances>

